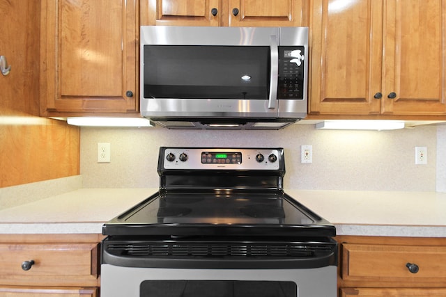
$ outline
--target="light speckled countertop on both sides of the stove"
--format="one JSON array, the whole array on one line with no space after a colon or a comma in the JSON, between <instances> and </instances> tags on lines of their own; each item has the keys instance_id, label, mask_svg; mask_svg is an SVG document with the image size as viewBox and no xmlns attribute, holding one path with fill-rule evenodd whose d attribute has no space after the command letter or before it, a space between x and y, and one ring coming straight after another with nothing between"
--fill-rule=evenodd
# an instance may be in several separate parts
<instances>
[{"instance_id":1,"label":"light speckled countertop on both sides of the stove","mask_svg":"<svg viewBox=\"0 0 446 297\"><path fill-rule=\"evenodd\" d=\"M156 188L82 188L0 210L0 233L96 233ZM446 193L286 190L339 235L446 237Z\"/></svg>"}]
</instances>

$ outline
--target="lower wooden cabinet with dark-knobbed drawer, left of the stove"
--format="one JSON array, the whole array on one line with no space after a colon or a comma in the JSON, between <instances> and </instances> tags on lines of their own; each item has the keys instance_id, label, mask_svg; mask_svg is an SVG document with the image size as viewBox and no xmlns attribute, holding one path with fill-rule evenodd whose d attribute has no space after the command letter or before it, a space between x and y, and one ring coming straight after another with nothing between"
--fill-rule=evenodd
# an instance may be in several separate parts
<instances>
[{"instance_id":1,"label":"lower wooden cabinet with dark-knobbed drawer, left of the stove","mask_svg":"<svg viewBox=\"0 0 446 297\"><path fill-rule=\"evenodd\" d=\"M0 234L0 297L99 296L100 234Z\"/></svg>"}]
</instances>

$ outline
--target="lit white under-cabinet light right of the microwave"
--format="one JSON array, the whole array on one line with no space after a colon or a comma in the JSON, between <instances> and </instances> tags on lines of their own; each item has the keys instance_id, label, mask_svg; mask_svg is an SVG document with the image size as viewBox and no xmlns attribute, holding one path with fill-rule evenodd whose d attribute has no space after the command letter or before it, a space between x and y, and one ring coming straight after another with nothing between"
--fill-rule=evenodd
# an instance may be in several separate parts
<instances>
[{"instance_id":1,"label":"lit white under-cabinet light right of the microwave","mask_svg":"<svg viewBox=\"0 0 446 297\"><path fill-rule=\"evenodd\" d=\"M325 120L316 129L332 130L396 130L403 129L404 122L396 120Z\"/></svg>"}]
</instances>

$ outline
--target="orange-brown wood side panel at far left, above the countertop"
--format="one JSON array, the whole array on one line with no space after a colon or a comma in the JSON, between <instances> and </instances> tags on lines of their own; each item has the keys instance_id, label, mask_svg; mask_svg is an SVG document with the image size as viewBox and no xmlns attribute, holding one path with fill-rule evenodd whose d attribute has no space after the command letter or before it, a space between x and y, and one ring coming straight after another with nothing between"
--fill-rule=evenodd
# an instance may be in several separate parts
<instances>
[{"instance_id":1,"label":"orange-brown wood side panel at far left, above the countertop","mask_svg":"<svg viewBox=\"0 0 446 297\"><path fill-rule=\"evenodd\" d=\"M0 187L79 175L77 127L39 115L39 1L0 0Z\"/></svg>"}]
</instances>

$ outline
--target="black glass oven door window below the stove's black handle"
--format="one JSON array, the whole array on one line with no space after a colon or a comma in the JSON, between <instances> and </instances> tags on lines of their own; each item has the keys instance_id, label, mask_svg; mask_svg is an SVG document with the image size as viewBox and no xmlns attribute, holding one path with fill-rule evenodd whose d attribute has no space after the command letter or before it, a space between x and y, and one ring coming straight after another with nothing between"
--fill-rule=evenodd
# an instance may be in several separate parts
<instances>
[{"instance_id":1,"label":"black glass oven door window below the stove's black handle","mask_svg":"<svg viewBox=\"0 0 446 297\"><path fill-rule=\"evenodd\" d=\"M247 280L146 280L140 297L295 297L294 282Z\"/></svg>"}]
</instances>

